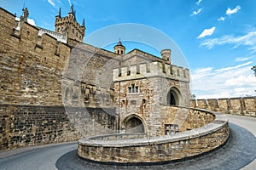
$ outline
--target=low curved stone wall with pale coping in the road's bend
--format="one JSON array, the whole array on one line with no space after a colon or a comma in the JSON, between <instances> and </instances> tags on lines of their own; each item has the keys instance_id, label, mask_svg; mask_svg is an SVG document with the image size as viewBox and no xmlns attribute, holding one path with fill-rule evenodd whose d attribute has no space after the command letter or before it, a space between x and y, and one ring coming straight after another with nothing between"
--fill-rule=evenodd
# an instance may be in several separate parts
<instances>
[{"instance_id":1,"label":"low curved stone wall with pale coping in the road's bend","mask_svg":"<svg viewBox=\"0 0 256 170\"><path fill-rule=\"evenodd\" d=\"M224 144L230 134L225 116L204 112L215 116L215 120L206 126L152 139L109 140L109 135L106 138L100 136L80 139L78 154L87 160L116 163L174 161L201 155Z\"/></svg>"}]
</instances>

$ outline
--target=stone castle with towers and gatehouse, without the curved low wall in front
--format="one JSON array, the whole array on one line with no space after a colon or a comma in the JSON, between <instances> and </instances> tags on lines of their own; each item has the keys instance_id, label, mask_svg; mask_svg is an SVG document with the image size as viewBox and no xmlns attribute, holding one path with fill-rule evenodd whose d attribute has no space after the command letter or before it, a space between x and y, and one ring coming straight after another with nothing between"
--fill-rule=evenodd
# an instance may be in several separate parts
<instances>
[{"instance_id":1,"label":"stone castle with towers and gatehouse, without the curved low wall in front","mask_svg":"<svg viewBox=\"0 0 256 170\"><path fill-rule=\"evenodd\" d=\"M159 58L137 48L126 53L120 40L113 52L86 44L73 6L66 17L59 10L55 31L28 24L27 8L20 20L3 8L0 14L2 148L79 139L72 122L85 135L96 133L93 123L97 133L164 135L173 124L169 106L189 106L189 70L172 65L170 49ZM63 105L77 110L63 115ZM92 121L71 120L82 107Z\"/></svg>"}]
</instances>

